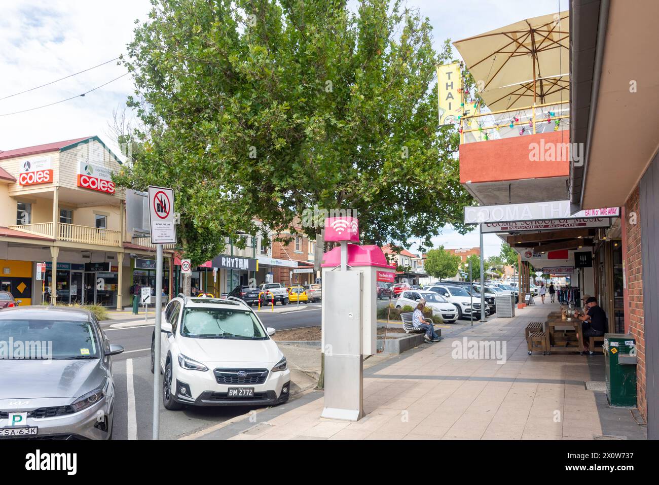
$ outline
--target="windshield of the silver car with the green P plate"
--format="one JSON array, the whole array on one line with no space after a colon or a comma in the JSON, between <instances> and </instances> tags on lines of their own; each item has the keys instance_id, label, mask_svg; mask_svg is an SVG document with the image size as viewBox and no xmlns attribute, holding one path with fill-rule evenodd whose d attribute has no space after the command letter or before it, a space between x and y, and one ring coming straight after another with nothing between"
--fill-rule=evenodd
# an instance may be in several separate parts
<instances>
[{"instance_id":1,"label":"windshield of the silver car with the green P plate","mask_svg":"<svg viewBox=\"0 0 659 485\"><path fill-rule=\"evenodd\" d=\"M90 322L0 319L0 360L99 357L98 339Z\"/></svg>"}]
</instances>

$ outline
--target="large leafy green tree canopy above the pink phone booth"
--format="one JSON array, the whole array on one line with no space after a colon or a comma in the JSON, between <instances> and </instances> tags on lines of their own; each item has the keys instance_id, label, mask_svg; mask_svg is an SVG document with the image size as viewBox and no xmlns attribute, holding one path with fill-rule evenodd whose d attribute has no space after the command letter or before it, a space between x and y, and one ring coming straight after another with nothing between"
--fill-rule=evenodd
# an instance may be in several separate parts
<instances>
[{"instance_id":1,"label":"large leafy green tree canopy above the pink phone booth","mask_svg":"<svg viewBox=\"0 0 659 485\"><path fill-rule=\"evenodd\" d=\"M121 185L171 186L193 263L225 238L357 210L362 242L466 232L459 138L438 126L431 27L401 1L152 0L123 62L144 146ZM303 228L318 232L317 220Z\"/></svg>"}]
</instances>

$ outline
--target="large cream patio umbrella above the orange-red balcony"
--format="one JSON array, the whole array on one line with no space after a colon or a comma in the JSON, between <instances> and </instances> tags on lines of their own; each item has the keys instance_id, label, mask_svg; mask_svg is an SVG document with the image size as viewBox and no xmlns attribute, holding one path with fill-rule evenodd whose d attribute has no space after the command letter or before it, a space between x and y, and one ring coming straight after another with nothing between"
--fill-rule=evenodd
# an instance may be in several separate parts
<instances>
[{"instance_id":1,"label":"large cream patio umbrella above the orange-red balcony","mask_svg":"<svg viewBox=\"0 0 659 485\"><path fill-rule=\"evenodd\" d=\"M568 13L453 42L492 111L569 100Z\"/></svg>"}]
</instances>

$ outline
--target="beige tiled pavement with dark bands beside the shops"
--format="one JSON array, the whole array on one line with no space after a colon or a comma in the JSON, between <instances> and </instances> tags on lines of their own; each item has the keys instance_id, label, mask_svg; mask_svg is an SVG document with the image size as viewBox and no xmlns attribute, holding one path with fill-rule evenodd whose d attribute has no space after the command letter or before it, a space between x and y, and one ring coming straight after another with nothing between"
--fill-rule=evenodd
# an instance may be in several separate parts
<instances>
[{"instance_id":1,"label":"beige tiled pavement with dark bands beside the shops","mask_svg":"<svg viewBox=\"0 0 659 485\"><path fill-rule=\"evenodd\" d=\"M538 304L511 319L455 325L443 331L449 338L442 342L373 362L364 371L366 417L358 422L321 418L324 393L308 389L289 403L188 437L645 439L633 410L610 408L604 392L586 389L587 381L604 381L602 355L527 354L526 325L558 308ZM492 344L498 352L495 358L472 355L469 342Z\"/></svg>"}]
</instances>

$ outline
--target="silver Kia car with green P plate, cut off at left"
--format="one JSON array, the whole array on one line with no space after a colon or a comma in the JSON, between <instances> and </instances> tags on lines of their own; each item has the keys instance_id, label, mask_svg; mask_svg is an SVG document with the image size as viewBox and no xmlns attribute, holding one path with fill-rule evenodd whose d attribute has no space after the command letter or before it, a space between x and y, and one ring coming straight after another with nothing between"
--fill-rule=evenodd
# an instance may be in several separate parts
<instances>
[{"instance_id":1,"label":"silver Kia car with green P plate, cut off at left","mask_svg":"<svg viewBox=\"0 0 659 485\"><path fill-rule=\"evenodd\" d=\"M121 352L85 309L1 311L0 439L110 439Z\"/></svg>"}]
</instances>

